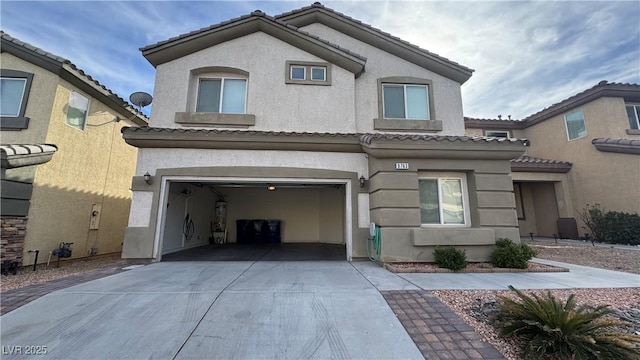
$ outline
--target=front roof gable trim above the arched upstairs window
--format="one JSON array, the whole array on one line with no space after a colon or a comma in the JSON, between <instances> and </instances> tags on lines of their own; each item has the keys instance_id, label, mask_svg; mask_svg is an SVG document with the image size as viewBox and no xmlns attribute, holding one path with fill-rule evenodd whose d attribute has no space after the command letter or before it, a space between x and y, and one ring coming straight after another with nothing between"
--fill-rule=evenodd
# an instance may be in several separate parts
<instances>
[{"instance_id":1,"label":"front roof gable trim above the arched upstairs window","mask_svg":"<svg viewBox=\"0 0 640 360\"><path fill-rule=\"evenodd\" d=\"M249 15L231 19L207 28L182 34L140 49L153 65L181 58L211 46L255 32L264 32L321 59L336 64L359 76L367 59L317 36L297 29L256 10Z\"/></svg>"}]
</instances>

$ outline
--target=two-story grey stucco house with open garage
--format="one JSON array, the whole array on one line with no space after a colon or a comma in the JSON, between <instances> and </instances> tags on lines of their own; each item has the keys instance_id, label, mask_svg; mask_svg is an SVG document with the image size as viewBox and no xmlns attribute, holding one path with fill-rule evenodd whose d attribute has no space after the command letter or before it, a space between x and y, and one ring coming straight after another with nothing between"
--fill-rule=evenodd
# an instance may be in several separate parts
<instances>
[{"instance_id":1,"label":"two-story grey stucco house with open garage","mask_svg":"<svg viewBox=\"0 0 640 360\"><path fill-rule=\"evenodd\" d=\"M525 141L464 136L469 68L319 3L141 51L155 102L151 127L123 129L139 148L124 257L207 244L214 220L235 242L237 220L278 219L283 242L347 259L367 256L370 221L384 261L519 241L509 160Z\"/></svg>"}]
</instances>

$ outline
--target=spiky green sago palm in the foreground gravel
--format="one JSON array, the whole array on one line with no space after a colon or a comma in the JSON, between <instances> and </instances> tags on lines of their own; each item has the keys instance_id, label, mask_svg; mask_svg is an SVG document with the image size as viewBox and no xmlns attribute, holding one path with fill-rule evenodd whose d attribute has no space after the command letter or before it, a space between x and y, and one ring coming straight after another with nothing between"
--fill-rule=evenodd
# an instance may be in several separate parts
<instances>
[{"instance_id":1,"label":"spiky green sago palm in the foreground gravel","mask_svg":"<svg viewBox=\"0 0 640 360\"><path fill-rule=\"evenodd\" d=\"M608 305L577 306L574 295L562 303L550 292L528 296L513 286L519 301L499 297L493 324L503 336L524 340L523 357L557 359L638 359L640 336L614 332L612 326L628 325L606 317Z\"/></svg>"}]
</instances>

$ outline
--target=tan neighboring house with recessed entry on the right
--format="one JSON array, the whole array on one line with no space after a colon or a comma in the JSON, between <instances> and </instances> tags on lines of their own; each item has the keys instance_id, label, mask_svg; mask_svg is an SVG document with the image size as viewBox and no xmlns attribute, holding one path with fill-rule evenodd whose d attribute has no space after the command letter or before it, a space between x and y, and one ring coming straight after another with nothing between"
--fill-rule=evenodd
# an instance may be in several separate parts
<instances>
[{"instance_id":1,"label":"tan neighboring house with recessed entry on the right","mask_svg":"<svg viewBox=\"0 0 640 360\"><path fill-rule=\"evenodd\" d=\"M587 204L640 213L638 84L602 81L520 121L466 118L465 127L531 142L511 162L522 236L584 236Z\"/></svg>"}]
</instances>

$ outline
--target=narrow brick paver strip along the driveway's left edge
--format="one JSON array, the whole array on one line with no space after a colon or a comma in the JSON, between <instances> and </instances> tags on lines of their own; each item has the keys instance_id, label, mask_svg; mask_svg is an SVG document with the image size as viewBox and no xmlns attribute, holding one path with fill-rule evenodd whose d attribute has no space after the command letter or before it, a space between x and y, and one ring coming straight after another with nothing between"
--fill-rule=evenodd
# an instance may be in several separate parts
<instances>
[{"instance_id":1,"label":"narrow brick paver strip along the driveway's left edge","mask_svg":"<svg viewBox=\"0 0 640 360\"><path fill-rule=\"evenodd\" d=\"M40 284L33 284L13 290L7 290L0 293L0 315L4 315L13 311L20 306L26 305L50 292L68 288L70 286L85 283L87 281L100 279L109 275L114 275L123 271L123 267L132 264L119 265L117 267L108 267L84 274L71 275L61 279L51 280ZM11 275L9 275L11 276Z\"/></svg>"}]
</instances>

